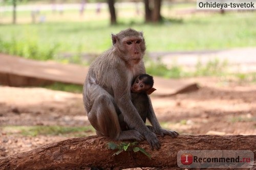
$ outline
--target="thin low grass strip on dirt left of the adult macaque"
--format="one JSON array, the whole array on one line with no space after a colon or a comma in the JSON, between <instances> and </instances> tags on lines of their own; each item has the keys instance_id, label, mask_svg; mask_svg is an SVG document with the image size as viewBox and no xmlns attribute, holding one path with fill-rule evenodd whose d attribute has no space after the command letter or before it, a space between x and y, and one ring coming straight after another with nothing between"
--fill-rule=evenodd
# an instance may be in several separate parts
<instances>
[{"instance_id":1,"label":"thin low grass strip on dirt left of the adult macaque","mask_svg":"<svg viewBox=\"0 0 256 170\"><path fill-rule=\"evenodd\" d=\"M92 126L87 127L62 127L62 126L4 126L1 131L8 134L22 134L24 136L37 135L74 135L86 136L89 132L94 132Z\"/></svg>"}]
</instances>

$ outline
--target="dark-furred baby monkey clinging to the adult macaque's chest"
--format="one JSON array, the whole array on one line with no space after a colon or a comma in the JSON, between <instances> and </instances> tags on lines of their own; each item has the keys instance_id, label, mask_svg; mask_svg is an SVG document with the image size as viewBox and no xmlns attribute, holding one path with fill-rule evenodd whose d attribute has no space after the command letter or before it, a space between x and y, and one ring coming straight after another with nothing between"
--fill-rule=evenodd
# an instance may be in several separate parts
<instances>
[{"instance_id":1,"label":"dark-furred baby monkey clinging to the adult macaque's chest","mask_svg":"<svg viewBox=\"0 0 256 170\"><path fill-rule=\"evenodd\" d=\"M135 78L131 86L132 103L138 110L143 122L146 122L150 106L148 105L148 98L146 95L153 93L156 89L153 87L154 79L147 74L139 75ZM129 130L129 127L124 122L123 115L118 115L119 123L122 130Z\"/></svg>"}]
</instances>

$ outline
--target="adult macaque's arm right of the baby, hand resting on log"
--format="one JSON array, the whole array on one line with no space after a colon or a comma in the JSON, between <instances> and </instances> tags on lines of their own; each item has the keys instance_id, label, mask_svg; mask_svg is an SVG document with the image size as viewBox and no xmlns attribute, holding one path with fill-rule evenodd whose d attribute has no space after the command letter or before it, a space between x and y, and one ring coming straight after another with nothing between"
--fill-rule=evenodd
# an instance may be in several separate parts
<instances>
[{"instance_id":1,"label":"adult macaque's arm right of the baby, hand resting on log","mask_svg":"<svg viewBox=\"0 0 256 170\"><path fill-rule=\"evenodd\" d=\"M150 121L151 125L152 126L147 126L148 129L150 129L152 132L160 135L160 136L164 136L164 135L169 135L169 136L172 136L172 137L177 137L179 135L178 132L176 131L168 131L168 130L165 130L165 129L162 129L158 120L157 120L157 117L156 117L156 114L154 112L154 109L153 109L153 106L152 106L152 103L151 103L151 99L150 99L150 96L148 96L148 104L149 104L149 109L148 109L148 114L147 114L147 118L148 120Z\"/></svg>"}]
</instances>

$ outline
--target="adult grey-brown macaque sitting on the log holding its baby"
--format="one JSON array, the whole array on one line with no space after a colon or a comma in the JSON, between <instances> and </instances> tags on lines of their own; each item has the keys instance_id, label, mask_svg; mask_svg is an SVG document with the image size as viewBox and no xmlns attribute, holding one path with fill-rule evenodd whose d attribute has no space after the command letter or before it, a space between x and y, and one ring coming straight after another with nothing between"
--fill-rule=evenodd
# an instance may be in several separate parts
<instances>
[{"instance_id":1,"label":"adult grey-brown macaque sitting on the log holding its baby","mask_svg":"<svg viewBox=\"0 0 256 170\"><path fill-rule=\"evenodd\" d=\"M160 127L148 96L148 120L152 128L145 125L131 101L132 81L138 75L145 74L143 34L133 29L123 30L112 34L112 42L113 46L91 64L84 83L83 103L88 119L97 135L115 140L146 139L152 149L159 149L156 134L177 137L178 133ZM118 121L120 113L129 130L121 130Z\"/></svg>"}]
</instances>

